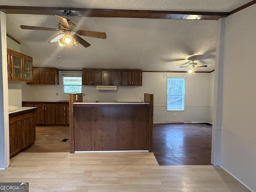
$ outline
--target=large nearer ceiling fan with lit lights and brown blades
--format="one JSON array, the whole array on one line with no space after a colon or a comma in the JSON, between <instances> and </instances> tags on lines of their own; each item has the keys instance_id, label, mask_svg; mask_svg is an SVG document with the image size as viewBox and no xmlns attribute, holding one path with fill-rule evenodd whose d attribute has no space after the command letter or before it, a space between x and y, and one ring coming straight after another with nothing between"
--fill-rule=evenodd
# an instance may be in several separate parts
<instances>
[{"instance_id":1,"label":"large nearer ceiling fan with lit lights and brown blades","mask_svg":"<svg viewBox=\"0 0 256 192\"><path fill-rule=\"evenodd\" d=\"M71 11L64 11L67 16L70 15ZM46 30L46 31L60 31L62 33L58 34L56 37L52 38L48 43L56 43L58 42L60 46L66 46L68 43L72 43L73 46L77 46L79 43L84 47L89 47L90 44L81 38L79 35L106 39L105 32L97 32L97 31L86 31L86 30L78 30L76 25L71 22L70 19L66 19L62 16L55 15L59 21L58 28L48 28L48 27L36 27L36 26L26 26L21 25L22 29L31 29L31 30Z\"/></svg>"}]
</instances>

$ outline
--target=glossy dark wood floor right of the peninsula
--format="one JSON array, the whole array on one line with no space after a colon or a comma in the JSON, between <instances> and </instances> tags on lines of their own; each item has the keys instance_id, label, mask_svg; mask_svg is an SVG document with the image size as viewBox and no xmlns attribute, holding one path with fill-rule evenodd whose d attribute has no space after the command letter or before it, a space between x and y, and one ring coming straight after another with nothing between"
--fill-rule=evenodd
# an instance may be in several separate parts
<instances>
[{"instance_id":1,"label":"glossy dark wood floor right of the peninsula","mask_svg":"<svg viewBox=\"0 0 256 192\"><path fill-rule=\"evenodd\" d=\"M153 152L159 165L209 165L211 147L211 124L153 126Z\"/></svg>"}]
</instances>

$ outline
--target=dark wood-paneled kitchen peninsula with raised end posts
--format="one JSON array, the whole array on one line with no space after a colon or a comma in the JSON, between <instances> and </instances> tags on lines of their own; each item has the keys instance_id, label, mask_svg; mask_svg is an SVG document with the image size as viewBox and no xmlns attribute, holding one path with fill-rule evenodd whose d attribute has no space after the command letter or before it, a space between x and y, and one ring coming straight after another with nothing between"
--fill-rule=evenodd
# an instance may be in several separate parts
<instances>
[{"instance_id":1,"label":"dark wood-paneled kitchen peninsula with raised end posts","mask_svg":"<svg viewBox=\"0 0 256 192\"><path fill-rule=\"evenodd\" d=\"M142 103L85 103L81 98L70 94L70 153L152 151L152 94L145 94Z\"/></svg>"}]
</instances>

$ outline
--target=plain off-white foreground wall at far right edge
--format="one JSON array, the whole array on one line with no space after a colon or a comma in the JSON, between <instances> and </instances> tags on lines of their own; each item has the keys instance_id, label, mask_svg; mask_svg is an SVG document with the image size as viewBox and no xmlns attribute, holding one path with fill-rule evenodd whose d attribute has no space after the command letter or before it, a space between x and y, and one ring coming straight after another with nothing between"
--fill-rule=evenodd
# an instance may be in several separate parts
<instances>
[{"instance_id":1,"label":"plain off-white foreground wall at far right edge","mask_svg":"<svg viewBox=\"0 0 256 192\"><path fill-rule=\"evenodd\" d=\"M226 18L221 166L256 191L256 4Z\"/></svg>"}]
</instances>

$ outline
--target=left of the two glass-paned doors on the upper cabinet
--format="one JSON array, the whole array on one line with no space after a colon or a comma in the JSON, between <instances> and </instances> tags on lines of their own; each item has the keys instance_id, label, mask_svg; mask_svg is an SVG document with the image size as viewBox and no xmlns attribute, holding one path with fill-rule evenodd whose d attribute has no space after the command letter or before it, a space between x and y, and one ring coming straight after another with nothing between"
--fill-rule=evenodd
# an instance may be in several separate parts
<instances>
[{"instance_id":1,"label":"left of the two glass-paned doors on the upper cabinet","mask_svg":"<svg viewBox=\"0 0 256 192\"><path fill-rule=\"evenodd\" d=\"M20 53L12 53L12 80L13 81L23 81L23 55Z\"/></svg>"}]
</instances>

